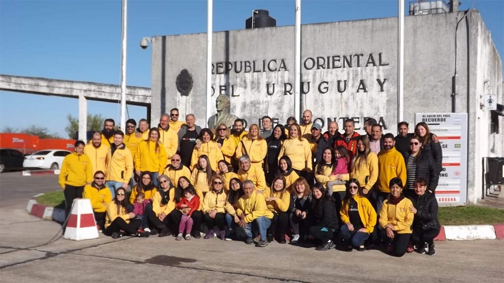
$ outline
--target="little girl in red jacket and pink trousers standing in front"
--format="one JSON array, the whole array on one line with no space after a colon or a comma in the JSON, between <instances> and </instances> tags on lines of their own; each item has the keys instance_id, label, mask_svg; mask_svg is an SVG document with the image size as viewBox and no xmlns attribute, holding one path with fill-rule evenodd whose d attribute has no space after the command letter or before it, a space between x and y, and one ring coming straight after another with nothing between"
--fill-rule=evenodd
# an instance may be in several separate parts
<instances>
[{"instance_id":1,"label":"little girl in red jacket and pink trousers standing in front","mask_svg":"<svg viewBox=\"0 0 504 283\"><path fill-rule=\"evenodd\" d=\"M178 225L178 235L176 241L182 240L182 234L185 229L185 240L191 240L191 229L193 228L193 219L191 215L193 211L200 208L200 197L196 195L196 190L192 186L188 186L183 191L184 197L177 202L177 208L182 211L182 218Z\"/></svg>"}]
</instances>

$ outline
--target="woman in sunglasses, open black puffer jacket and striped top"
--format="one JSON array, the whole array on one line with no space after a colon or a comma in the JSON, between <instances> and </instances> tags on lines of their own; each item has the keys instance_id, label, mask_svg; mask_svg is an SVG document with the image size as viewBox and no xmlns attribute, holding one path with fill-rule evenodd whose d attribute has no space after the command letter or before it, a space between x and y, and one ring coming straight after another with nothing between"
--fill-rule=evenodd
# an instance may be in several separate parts
<instances>
[{"instance_id":1,"label":"woman in sunglasses, open black puffer jacket and striped top","mask_svg":"<svg viewBox=\"0 0 504 283\"><path fill-rule=\"evenodd\" d=\"M424 153L422 143L417 135L414 135L409 142L409 151L404 153L404 163L406 164L406 185L405 195L414 195L413 182L416 179L425 179L428 190L434 193L439 181L439 168L432 155Z\"/></svg>"}]
</instances>

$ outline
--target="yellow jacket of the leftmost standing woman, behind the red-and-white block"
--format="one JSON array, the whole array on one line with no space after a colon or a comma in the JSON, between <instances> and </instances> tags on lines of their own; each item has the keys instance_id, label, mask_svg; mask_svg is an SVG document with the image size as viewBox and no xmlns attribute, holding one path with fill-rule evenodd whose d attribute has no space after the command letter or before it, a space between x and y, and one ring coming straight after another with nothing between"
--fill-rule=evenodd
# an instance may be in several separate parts
<instances>
[{"instance_id":1,"label":"yellow jacket of the leftmost standing woman, behind the red-and-white block","mask_svg":"<svg viewBox=\"0 0 504 283\"><path fill-rule=\"evenodd\" d=\"M59 172L58 183L65 189L65 184L71 186L84 186L93 181L93 168L91 161L85 154L78 155L73 152L63 159Z\"/></svg>"}]
</instances>

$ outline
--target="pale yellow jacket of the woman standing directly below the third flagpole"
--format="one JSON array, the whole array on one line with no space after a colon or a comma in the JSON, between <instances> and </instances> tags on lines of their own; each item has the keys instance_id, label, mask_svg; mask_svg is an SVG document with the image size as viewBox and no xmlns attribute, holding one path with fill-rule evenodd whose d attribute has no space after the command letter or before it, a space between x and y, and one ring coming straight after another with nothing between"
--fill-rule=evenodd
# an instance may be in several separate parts
<instances>
[{"instance_id":1,"label":"pale yellow jacket of the woman standing directly below the third flagpole","mask_svg":"<svg viewBox=\"0 0 504 283\"><path fill-rule=\"evenodd\" d=\"M282 156L288 156L292 162L292 168L311 172L311 148L306 139L289 138L284 140L278 160Z\"/></svg>"}]
</instances>

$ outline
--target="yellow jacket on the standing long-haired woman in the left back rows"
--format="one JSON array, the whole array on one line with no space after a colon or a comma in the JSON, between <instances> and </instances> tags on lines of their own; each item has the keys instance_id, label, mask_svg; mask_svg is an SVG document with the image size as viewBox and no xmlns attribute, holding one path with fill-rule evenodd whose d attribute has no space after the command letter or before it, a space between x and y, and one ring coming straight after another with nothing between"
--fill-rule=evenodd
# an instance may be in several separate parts
<instances>
[{"instance_id":1,"label":"yellow jacket on the standing long-haired woman in the left back rows","mask_svg":"<svg viewBox=\"0 0 504 283\"><path fill-rule=\"evenodd\" d=\"M163 174L166 167L166 153L163 145L159 144L156 151L156 144L151 140L142 140L138 145L135 155L135 169L141 172L158 172Z\"/></svg>"}]
</instances>

